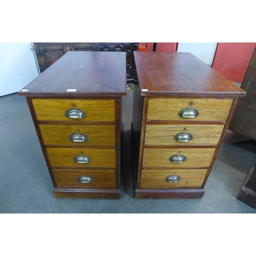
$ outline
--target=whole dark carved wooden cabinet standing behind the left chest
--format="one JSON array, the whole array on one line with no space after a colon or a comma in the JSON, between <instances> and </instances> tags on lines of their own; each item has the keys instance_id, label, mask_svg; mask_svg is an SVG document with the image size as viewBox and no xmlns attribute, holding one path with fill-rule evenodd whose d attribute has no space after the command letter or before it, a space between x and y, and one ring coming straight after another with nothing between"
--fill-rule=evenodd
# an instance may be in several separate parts
<instances>
[{"instance_id":1,"label":"whole dark carved wooden cabinet standing behind the left chest","mask_svg":"<svg viewBox=\"0 0 256 256\"><path fill-rule=\"evenodd\" d=\"M69 51L126 52L126 80L136 80L134 51L138 42L34 42L40 73Z\"/></svg>"}]
</instances>

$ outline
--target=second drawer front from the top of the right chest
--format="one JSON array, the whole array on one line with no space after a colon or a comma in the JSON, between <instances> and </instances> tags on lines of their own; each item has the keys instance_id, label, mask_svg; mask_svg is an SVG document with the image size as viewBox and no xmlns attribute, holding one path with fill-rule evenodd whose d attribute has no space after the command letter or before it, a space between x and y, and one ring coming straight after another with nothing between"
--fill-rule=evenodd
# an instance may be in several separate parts
<instances>
[{"instance_id":1,"label":"second drawer front from the top of the right chest","mask_svg":"<svg viewBox=\"0 0 256 256\"><path fill-rule=\"evenodd\" d=\"M224 125L147 124L145 145L218 145ZM185 131L184 131L185 130ZM184 134L188 133L188 134ZM174 139L179 135L179 140ZM186 140L192 135L190 141Z\"/></svg>"}]
</instances>

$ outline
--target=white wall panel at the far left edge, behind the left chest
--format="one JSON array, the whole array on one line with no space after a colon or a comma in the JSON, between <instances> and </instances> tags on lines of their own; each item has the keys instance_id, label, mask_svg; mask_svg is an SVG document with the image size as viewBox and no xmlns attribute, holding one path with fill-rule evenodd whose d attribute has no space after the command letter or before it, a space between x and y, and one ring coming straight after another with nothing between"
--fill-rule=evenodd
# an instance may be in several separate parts
<instances>
[{"instance_id":1,"label":"white wall panel at the far left edge, behind the left chest","mask_svg":"<svg viewBox=\"0 0 256 256\"><path fill-rule=\"evenodd\" d=\"M20 91L37 76L30 42L0 43L0 96Z\"/></svg>"}]
</instances>

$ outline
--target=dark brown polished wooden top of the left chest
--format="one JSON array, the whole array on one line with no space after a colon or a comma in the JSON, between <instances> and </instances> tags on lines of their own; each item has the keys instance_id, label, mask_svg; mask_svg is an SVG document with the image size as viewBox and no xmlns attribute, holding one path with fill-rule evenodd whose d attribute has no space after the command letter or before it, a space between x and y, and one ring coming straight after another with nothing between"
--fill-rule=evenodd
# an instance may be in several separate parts
<instances>
[{"instance_id":1,"label":"dark brown polished wooden top of the left chest","mask_svg":"<svg viewBox=\"0 0 256 256\"><path fill-rule=\"evenodd\" d=\"M27 91L24 91L27 90ZM125 52L72 51L63 55L20 96L125 96Z\"/></svg>"}]
</instances>

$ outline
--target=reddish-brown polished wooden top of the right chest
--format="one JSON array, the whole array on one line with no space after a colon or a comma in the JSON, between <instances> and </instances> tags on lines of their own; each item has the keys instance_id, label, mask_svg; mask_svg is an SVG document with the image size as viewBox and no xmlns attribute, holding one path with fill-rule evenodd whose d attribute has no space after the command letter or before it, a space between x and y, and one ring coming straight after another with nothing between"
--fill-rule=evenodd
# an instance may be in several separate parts
<instances>
[{"instance_id":1,"label":"reddish-brown polished wooden top of the right chest","mask_svg":"<svg viewBox=\"0 0 256 256\"><path fill-rule=\"evenodd\" d=\"M191 53L134 52L142 96L237 97L246 93Z\"/></svg>"}]
</instances>

